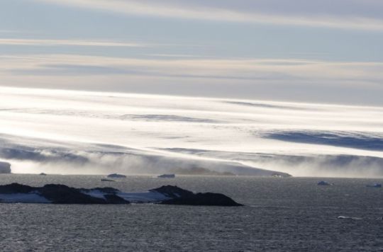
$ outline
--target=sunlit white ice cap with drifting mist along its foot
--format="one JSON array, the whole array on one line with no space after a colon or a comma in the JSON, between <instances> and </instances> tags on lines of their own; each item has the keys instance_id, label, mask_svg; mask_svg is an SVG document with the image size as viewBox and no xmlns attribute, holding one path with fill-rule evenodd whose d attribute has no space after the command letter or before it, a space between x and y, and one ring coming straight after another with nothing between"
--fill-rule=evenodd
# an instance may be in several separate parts
<instances>
[{"instance_id":1,"label":"sunlit white ice cap with drifting mist along its foot","mask_svg":"<svg viewBox=\"0 0 383 252\"><path fill-rule=\"evenodd\" d=\"M16 173L383 177L383 108L0 88Z\"/></svg>"}]
</instances>

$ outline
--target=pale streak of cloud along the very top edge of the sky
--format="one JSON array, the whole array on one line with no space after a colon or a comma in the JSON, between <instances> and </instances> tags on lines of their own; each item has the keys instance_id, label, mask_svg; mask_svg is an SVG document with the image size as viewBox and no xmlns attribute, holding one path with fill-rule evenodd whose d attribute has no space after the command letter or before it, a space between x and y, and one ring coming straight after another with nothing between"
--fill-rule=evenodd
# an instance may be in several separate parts
<instances>
[{"instance_id":1,"label":"pale streak of cloud along the very top edge of the sky","mask_svg":"<svg viewBox=\"0 0 383 252\"><path fill-rule=\"evenodd\" d=\"M126 15L188 18L204 21L303 25L311 27L383 30L378 1L120 1L35 0ZM253 3L252 3L253 2ZM309 3L307 3L309 2ZM326 8L323 8L325 6ZM331 8L328 8L331 6ZM371 15L370 13L378 13Z\"/></svg>"}]
</instances>

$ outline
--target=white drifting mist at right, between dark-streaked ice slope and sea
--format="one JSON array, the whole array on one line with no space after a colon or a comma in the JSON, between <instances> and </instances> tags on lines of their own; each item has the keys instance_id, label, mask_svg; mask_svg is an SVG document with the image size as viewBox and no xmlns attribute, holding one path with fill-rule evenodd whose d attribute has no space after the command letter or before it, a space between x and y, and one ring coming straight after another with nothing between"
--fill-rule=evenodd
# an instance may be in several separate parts
<instances>
[{"instance_id":1,"label":"white drifting mist at right, between dark-streaked ice slope and sea","mask_svg":"<svg viewBox=\"0 0 383 252\"><path fill-rule=\"evenodd\" d=\"M196 154L198 156L219 156L221 159L235 156L243 164L251 164L275 171L284 171L294 176L381 178L383 159L378 156L360 156L357 154L275 154L231 151L213 151L206 149L172 148L167 151Z\"/></svg>"}]
</instances>

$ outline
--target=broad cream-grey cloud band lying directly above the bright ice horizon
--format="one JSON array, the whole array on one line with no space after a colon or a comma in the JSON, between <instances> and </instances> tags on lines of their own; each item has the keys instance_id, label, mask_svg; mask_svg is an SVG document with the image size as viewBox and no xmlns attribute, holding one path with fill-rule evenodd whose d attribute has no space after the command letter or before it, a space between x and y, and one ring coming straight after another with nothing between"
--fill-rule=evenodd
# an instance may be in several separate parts
<instances>
[{"instance_id":1,"label":"broad cream-grey cloud band lying directly above the bright ice horizon","mask_svg":"<svg viewBox=\"0 0 383 252\"><path fill-rule=\"evenodd\" d=\"M0 56L3 86L382 104L382 62Z\"/></svg>"}]
</instances>

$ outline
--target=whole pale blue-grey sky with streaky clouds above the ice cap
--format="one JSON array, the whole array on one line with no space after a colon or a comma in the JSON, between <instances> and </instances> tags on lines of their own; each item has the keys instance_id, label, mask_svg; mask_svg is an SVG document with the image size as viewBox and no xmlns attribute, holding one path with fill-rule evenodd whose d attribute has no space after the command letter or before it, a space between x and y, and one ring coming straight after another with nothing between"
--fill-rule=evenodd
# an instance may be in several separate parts
<instances>
[{"instance_id":1,"label":"whole pale blue-grey sky with streaky clouds above the ice cap","mask_svg":"<svg viewBox=\"0 0 383 252\"><path fill-rule=\"evenodd\" d=\"M0 86L383 105L380 0L0 6Z\"/></svg>"}]
</instances>

